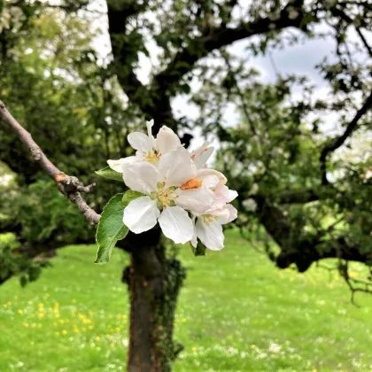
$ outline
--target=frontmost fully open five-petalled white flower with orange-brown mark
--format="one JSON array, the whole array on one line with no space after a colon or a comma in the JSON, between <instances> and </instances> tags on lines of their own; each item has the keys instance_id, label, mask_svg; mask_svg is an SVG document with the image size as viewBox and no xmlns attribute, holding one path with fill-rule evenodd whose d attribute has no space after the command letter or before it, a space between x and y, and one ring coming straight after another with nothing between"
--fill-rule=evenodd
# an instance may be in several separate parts
<instances>
[{"instance_id":1,"label":"frontmost fully open five-petalled white flower with orange-brown mark","mask_svg":"<svg viewBox=\"0 0 372 372\"><path fill-rule=\"evenodd\" d=\"M128 157L122 163L122 172L129 189L146 195L124 209L124 224L136 234L152 229L159 221L165 236L184 244L193 236L192 221L185 209L197 208L204 213L215 200L213 191L195 180L197 169L183 147L163 155L157 167Z\"/></svg>"}]
</instances>

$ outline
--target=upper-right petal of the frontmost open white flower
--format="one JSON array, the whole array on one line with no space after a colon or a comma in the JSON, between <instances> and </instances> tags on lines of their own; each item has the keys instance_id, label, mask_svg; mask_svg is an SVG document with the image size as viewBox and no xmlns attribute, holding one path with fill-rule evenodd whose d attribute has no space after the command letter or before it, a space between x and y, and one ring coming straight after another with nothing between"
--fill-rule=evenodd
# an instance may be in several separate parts
<instances>
[{"instance_id":1,"label":"upper-right petal of the frontmost open white flower","mask_svg":"<svg viewBox=\"0 0 372 372\"><path fill-rule=\"evenodd\" d=\"M159 160L159 182L165 181L167 186L181 186L194 178L196 167L190 159L189 151L179 147L175 151L167 152Z\"/></svg>"}]
</instances>

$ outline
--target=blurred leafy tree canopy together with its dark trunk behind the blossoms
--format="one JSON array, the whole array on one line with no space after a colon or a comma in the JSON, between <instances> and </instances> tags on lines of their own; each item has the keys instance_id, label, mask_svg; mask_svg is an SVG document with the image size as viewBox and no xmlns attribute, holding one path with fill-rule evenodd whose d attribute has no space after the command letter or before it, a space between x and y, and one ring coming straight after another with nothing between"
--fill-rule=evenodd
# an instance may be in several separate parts
<instances>
[{"instance_id":1,"label":"blurred leafy tree canopy together with its dark trunk behind the blossoms","mask_svg":"<svg viewBox=\"0 0 372 372\"><path fill-rule=\"evenodd\" d=\"M167 125L182 134L186 147L195 134L215 139L216 165L239 192L244 236L259 223L277 267L304 272L337 259L352 291L369 291L371 20L363 0L1 1L0 97L48 158L84 183L106 159L129 155L127 135L144 120L155 121L155 133ZM329 43L314 66L326 95L308 76L275 66L278 50L316 40ZM244 53L236 54L236 42ZM252 68L258 57L270 58L274 80ZM180 97L189 105L178 114ZM57 248L94 234L17 139L3 128L0 136L0 282L19 274L27 283ZM97 186L87 196L97 212L124 191L120 183ZM132 257L123 275L135 294L129 365L158 355L156 343L136 340L158 339L161 325L170 346L159 353L166 360L159 370L167 370L180 351L172 333L184 271L158 230L118 245ZM349 261L366 265L365 281L349 275ZM164 315L154 322L157 314Z\"/></svg>"}]
</instances>

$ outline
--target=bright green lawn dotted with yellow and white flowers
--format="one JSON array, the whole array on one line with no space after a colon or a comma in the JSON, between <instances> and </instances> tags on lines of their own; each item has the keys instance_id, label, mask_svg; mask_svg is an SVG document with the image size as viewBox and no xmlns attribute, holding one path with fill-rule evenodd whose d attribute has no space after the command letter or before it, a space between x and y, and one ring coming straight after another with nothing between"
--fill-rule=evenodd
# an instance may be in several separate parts
<instances>
[{"instance_id":1,"label":"bright green lawn dotted with yellow and white flowers","mask_svg":"<svg viewBox=\"0 0 372 372\"><path fill-rule=\"evenodd\" d=\"M0 287L0 371L125 370L127 258L96 266L95 251L66 247L36 283ZM372 298L353 306L336 274L278 270L233 231L222 252L194 258L185 245L182 261L175 371L372 370Z\"/></svg>"}]
</instances>

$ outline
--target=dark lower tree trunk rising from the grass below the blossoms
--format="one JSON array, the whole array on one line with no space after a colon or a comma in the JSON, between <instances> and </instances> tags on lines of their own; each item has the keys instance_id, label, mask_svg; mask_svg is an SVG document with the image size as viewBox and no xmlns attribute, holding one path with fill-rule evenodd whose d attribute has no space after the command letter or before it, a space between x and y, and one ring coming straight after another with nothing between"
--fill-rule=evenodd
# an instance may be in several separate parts
<instances>
[{"instance_id":1,"label":"dark lower tree trunk rising from the grass below the blossoms","mask_svg":"<svg viewBox=\"0 0 372 372\"><path fill-rule=\"evenodd\" d=\"M167 259L159 229L128 237L128 371L171 371L173 360L182 350L182 345L174 345L173 324L185 272L178 260Z\"/></svg>"}]
</instances>

